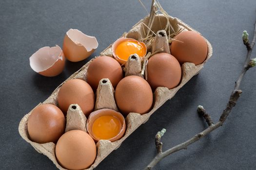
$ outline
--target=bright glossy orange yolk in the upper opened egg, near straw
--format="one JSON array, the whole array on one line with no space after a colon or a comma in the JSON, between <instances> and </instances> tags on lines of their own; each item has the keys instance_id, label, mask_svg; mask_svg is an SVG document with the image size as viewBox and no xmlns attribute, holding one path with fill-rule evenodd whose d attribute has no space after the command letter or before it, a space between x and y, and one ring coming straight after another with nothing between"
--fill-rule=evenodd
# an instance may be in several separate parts
<instances>
[{"instance_id":1,"label":"bright glossy orange yolk in the upper opened egg, near straw","mask_svg":"<svg viewBox=\"0 0 256 170\"><path fill-rule=\"evenodd\" d=\"M146 49L139 42L128 40L118 44L115 52L118 58L127 61L131 54L137 53L138 56L143 57Z\"/></svg>"}]
</instances>

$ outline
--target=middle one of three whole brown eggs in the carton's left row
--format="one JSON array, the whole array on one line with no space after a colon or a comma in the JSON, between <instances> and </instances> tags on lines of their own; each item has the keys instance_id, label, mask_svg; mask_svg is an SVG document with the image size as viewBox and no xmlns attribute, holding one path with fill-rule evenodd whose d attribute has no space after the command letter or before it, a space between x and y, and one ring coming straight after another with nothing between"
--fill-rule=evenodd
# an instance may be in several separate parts
<instances>
[{"instance_id":1,"label":"middle one of three whole brown eggs in the carton's left row","mask_svg":"<svg viewBox=\"0 0 256 170\"><path fill-rule=\"evenodd\" d=\"M95 104L93 89L83 80L69 80L59 89L58 103L64 114L67 113L70 104L78 104L84 115L88 117Z\"/></svg>"}]
</instances>

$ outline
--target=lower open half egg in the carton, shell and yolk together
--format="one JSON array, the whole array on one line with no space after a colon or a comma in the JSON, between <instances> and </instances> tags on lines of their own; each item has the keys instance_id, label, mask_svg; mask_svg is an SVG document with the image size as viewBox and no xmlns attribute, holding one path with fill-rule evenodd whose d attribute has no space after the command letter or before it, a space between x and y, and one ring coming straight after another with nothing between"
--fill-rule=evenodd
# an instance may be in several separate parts
<instances>
[{"instance_id":1,"label":"lower open half egg in the carton, shell and yolk together","mask_svg":"<svg viewBox=\"0 0 256 170\"><path fill-rule=\"evenodd\" d=\"M99 109L90 114L86 129L92 138L111 142L120 139L125 133L125 119L119 112L111 109Z\"/></svg>"}]
</instances>

